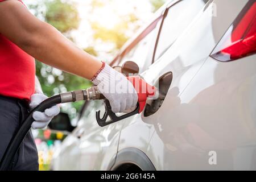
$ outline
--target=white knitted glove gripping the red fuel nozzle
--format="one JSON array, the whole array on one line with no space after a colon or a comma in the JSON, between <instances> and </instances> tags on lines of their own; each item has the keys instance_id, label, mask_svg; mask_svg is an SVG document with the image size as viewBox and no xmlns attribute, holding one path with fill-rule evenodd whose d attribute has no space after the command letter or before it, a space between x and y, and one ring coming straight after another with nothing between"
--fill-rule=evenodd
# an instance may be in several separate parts
<instances>
[{"instance_id":1,"label":"white knitted glove gripping the red fuel nozzle","mask_svg":"<svg viewBox=\"0 0 256 182\"><path fill-rule=\"evenodd\" d=\"M133 84L122 73L115 71L108 64L105 64L105 67L96 78L92 79L92 82L109 100L114 113L122 113L137 105L138 94Z\"/></svg>"}]
</instances>

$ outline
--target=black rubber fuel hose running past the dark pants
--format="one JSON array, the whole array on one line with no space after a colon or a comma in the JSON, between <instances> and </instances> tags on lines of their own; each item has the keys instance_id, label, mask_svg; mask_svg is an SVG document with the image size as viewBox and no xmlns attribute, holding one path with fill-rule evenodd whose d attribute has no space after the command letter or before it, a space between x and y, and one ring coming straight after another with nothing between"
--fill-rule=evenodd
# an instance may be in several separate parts
<instances>
[{"instance_id":1,"label":"black rubber fuel hose running past the dark pants","mask_svg":"<svg viewBox=\"0 0 256 182\"><path fill-rule=\"evenodd\" d=\"M22 143L22 140L24 139L24 137L26 137L28 131L30 131L32 122L35 121L35 119L32 117L33 112L34 111L43 112L44 110L60 103L61 103L60 94L49 97L47 98L47 100L44 100L40 105L35 107L35 109L32 110L30 114L28 114L28 117L22 123L22 126L20 126L18 132L11 139L9 146L6 148L5 154L3 154L2 156L1 163L0 163L0 171L9 170L10 164L13 162L14 156L18 151L18 148Z\"/></svg>"}]
</instances>

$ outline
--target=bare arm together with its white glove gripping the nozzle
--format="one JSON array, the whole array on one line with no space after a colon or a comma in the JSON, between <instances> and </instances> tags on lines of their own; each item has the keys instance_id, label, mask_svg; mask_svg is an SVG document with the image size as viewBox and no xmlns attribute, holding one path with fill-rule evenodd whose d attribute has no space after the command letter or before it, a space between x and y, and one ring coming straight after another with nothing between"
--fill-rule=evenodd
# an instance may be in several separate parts
<instances>
[{"instance_id":1,"label":"bare arm together with its white glove gripping the nozzle","mask_svg":"<svg viewBox=\"0 0 256 182\"><path fill-rule=\"evenodd\" d=\"M77 48L56 28L32 15L19 1L0 2L0 33L37 60L92 79L98 90L109 100L115 113L133 108L138 100L146 101L146 97L141 97L141 90L134 88L135 82L127 80L109 65Z\"/></svg>"}]
</instances>

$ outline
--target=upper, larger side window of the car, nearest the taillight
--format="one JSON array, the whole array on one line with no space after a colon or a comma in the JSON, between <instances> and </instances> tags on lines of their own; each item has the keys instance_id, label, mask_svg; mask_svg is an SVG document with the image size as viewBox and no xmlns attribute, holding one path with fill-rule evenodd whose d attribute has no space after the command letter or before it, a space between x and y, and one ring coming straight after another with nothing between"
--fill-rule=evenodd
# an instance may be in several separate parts
<instances>
[{"instance_id":1,"label":"upper, larger side window of the car, nearest the taillight","mask_svg":"<svg viewBox=\"0 0 256 182\"><path fill-rule=\"evenodd\" d=\"M205 0L183 0L168 9L162 22L154 60L157 60L172 46L206 2Z\"/></svg>"}]
</instances>

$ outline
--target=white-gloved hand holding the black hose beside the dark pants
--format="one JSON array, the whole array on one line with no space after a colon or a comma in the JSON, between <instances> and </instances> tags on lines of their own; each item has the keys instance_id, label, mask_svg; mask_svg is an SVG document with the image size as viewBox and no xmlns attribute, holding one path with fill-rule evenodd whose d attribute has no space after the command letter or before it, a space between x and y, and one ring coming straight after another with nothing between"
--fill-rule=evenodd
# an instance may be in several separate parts
<instances>
[{"instance_id":1,"label":"white-gloved hand holding the black hose beside the dark pants","mask_svg":"<svg viewBox=\"0 0 256 182\"><path fill-rule=\"evenodd\" d=\"M36 106L38 106L41 102L43 102L47 98L48 97L42 93L32 94L32 96L30 97L30 110L34 109ZM32 116L35 119L35 121L32 123L31 127L33 129L43 129L49 124L51 119L59 113L60 113L60 108L57 105L52 106L49 109L46 109L43 113L39 111L34 111Z\"/></svg>"}]
</instances>

